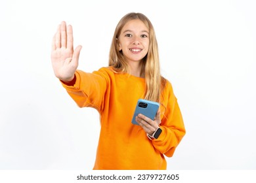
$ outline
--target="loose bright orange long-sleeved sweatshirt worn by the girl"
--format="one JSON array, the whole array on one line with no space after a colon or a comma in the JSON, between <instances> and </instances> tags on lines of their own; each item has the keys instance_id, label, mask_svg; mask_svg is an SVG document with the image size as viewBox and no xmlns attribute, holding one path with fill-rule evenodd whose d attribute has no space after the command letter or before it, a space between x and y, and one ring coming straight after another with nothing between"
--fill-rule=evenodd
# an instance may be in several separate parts
<instances>
[{"instance_id":1,"label":"loose bright orange long-sleeved sweatshirt worn by the girl","mask_svg":"<svg viewBox=\"0 0 256 183\"><path fill-rule=\"evenodd\" d=\"M185 134L173 88L167 82L161 97L162 133L150 140L131 120L137 101L143 98L145 79L114 73L102 67L93 73L75 72L69 95L79 107L93 107L100 113L100 137L93 169L166 169L165 156L173 156ZM165 155L165 156L163 156Z\"/></svg>"}]
</instances>

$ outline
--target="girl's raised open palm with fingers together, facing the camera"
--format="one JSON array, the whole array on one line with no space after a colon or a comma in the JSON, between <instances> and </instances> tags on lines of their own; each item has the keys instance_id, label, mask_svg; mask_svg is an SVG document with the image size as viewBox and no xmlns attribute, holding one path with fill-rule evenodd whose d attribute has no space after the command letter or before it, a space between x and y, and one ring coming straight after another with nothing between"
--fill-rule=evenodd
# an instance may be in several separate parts
<instances>
[{"instance_id":1,"label":"girl's raised open palm with fingers together, facing the camera","mask_svg":"<svg viewBox=\"0 0 256 183\"><path fill-rule=\"evenodd\" d=\"M51 60L54 75L68 82L74 78L78 67L78 59L82 46L73 48L72 26L66 26L66 22L61 22L53 37Z\"/></svg>"}]
</instances>

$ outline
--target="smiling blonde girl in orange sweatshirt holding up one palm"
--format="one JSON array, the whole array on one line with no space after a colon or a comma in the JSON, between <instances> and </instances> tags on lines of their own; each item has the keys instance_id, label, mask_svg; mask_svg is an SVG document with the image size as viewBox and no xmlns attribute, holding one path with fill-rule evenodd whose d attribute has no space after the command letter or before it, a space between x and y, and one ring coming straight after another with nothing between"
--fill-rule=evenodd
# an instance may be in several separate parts
<instances>
[{"instance_id":1,"label":"smiling blonde girl in orange sweatshirt holding up one palm","mask_svg":"<svg viewBox=\"0 0 256 183\"><path fill-rule=\"evenodd\" d=\"M93 73L77 70L80 50L73 48L72 26L62 22L53 38L53 70L79 107L93 107L100 114L94 169L166 169L165 156L173 156L185 129L173 88L160 75L150 20L140 13L121 18L108 67ZM160 110L155 120L139 114L139 125L134 125L141 98L160 103Z\"/></svg>"}]
</instances>

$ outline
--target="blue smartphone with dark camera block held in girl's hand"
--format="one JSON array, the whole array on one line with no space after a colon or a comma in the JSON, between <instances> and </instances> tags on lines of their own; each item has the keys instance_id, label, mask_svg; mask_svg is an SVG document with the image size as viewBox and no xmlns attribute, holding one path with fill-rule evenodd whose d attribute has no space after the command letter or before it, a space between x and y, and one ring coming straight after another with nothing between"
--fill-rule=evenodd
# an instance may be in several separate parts
<instances>
[{"instance_id":1,"label":"blue smartphone with dark camera block held in girl's hand","mask_svg":"<svg viewBox=\"0 0 256 183\"><path fill-rule=\"evenodd\" d=\"M156 113L158 112L159 103L154 101L147 101L144 99L139 99L137 102L137 106L135 108L135 112L133 114L133 120L131 121L132 124L139 125L135 118L138 116L138 114L143 114L144 116L147 116L151 120L154 120L156 117Z\"/></svg>"}]
</instances>

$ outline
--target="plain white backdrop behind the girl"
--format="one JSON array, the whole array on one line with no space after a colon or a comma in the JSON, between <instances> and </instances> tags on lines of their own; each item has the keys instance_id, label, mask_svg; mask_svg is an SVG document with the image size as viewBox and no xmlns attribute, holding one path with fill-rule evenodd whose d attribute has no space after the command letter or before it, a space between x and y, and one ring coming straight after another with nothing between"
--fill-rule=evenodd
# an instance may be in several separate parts
<instances>
[{"instance_id":1,"label":"plain white backdrop behind the girl","mask_svg":"<svg viewBox=\"0 0 256 183\"><path fill-rule=\"evenodd\" d=\"M168 169L256 168L256 3L217 1L0 1L0 169L92 169L100 130L51 67L65 20L83 46L79 69L108 65L117 22L142 12L156 30L186 136Z\"/></svg>"}]
</instances>

